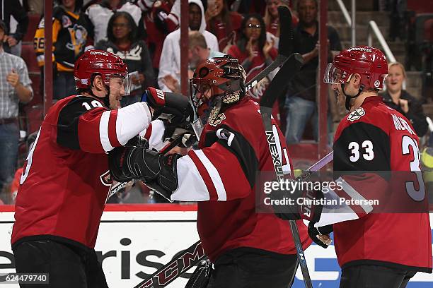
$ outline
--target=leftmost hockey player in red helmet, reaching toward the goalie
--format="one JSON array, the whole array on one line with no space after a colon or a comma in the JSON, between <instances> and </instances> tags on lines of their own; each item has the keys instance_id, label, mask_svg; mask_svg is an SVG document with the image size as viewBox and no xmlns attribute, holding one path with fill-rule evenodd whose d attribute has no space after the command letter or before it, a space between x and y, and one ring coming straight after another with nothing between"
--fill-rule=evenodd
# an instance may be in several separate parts
<instances>
[{"instance_id":1,"label":"leftmost hockey player in red helmet, reaching toward the goalie","mask_svg":"<svg viewBox=\"0 0 433 288\"><path fill-rule=\"evenodd\" d=\"M148 104L120 108L130 87L127 75L119 57L85 52L74 69L79 95L50 108L29 152L11 244L17 272L49 273L50 284L41 287L108 287L93 250L112 184L107 152L146 128L154 143L164 131L159 120L150 129ZM156 103L155 94L147 97ZM179 102L173 107L164 107L161 99L158 103L154 107L161 112L185 113L176 108L182 106Z\"/></svg>"}]
</instances>

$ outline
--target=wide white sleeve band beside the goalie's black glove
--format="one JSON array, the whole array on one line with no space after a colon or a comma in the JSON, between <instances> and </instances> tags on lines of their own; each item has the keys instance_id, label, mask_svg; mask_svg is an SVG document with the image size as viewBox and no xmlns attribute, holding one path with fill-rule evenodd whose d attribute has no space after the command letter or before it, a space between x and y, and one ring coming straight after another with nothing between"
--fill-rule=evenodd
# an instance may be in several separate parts
<instances>
[{"instance_id":1,"label":"wide white sleeve band beside the goalie's black glove","mask_svg":"<svg viewBox=\"0 0 433 288\"><path fill-rule=\"evenodd\" d=\"M178 159L178 188L171 194L171 200L179 201L206 201L210 199L209 191L197 167L185 155Z\"/></svg>"}]
</instances>

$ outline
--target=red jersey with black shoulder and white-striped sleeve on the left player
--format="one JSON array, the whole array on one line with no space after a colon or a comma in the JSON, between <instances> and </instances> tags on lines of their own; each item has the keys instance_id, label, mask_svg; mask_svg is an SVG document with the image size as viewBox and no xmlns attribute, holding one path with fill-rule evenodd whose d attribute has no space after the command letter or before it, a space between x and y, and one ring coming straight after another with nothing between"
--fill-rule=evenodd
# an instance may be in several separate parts
<instances>
[{"instance_id":1,"label":"red jersey with black shoulder and white-striped sleeve on the left player","mask_svg":"<svg viewBox=\"0 0 433 288\"><path fill-rule=\"evenodd\" d=\"M108 110L94 97L70 96L51 107L23 167L11 243L56 239L93 248L111 186L106 152L150 120L142 102Z\"/></svg>"}]
</instances>

